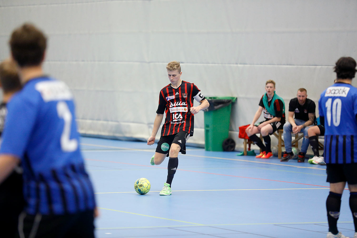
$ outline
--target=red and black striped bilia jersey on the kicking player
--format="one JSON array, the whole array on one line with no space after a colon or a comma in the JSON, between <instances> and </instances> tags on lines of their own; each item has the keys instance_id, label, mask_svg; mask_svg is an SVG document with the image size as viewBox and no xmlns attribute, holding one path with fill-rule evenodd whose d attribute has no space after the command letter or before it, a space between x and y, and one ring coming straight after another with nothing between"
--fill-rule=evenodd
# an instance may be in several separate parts
<instances>
[{"instance_id":1,"label":"red and black striped bilia jersey on the kicking player","mask_svg":"<svg viewBox=\"0 0 357 238\"><path fill-rule=\"evenodd\" d=\"M178 88L173 88L169 84L161 89L156 110L157 114L166 113L161 136L173 135L179 131L185 131L193 136L193 114L190 112L193 99L198 102L205 100L193 83L182 81Z\"/></svg>"}]
</instances>

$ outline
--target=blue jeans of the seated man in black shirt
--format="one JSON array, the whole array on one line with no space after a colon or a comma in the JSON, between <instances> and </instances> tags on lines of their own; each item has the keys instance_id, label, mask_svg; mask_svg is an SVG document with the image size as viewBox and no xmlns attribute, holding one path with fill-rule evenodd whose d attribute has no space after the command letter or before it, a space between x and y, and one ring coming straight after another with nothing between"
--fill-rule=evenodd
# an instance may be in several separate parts
<instances>
[{"instance_id":1,"label":"blue jeans of the seated man in black shirt","mask_svg":"<svg viewBox=\"0 0 357 238\"><path fill-rule=\"evenodd\" d=\"M303 125L306 122L306 121L303 121L300 119L294 119L294 121L297 126ZM307 148L309 147L309 143L310 143L310 141L308 139L308 135L307 135L307 130L309 127L311 127L311 126L302 128L301 131L299 131L299 132L304 133L304 137L302 139L301 150L300 150L303 153L306 153ZM285 122L283 136L284 136L285 151L288 153L290 153L292 151L291 150L291 132L292 132L292 125L290 124L290 122Z\"/></svg>"}]
</instances>

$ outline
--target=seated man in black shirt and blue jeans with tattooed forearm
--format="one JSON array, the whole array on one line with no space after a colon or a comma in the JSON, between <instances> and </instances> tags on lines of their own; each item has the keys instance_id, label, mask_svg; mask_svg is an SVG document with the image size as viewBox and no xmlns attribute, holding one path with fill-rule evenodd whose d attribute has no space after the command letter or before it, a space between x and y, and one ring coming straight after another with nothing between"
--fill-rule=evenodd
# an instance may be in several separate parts
<instances>
[{"instance_id":1,"label":"seated man in black shirt and blue jeans with tattooed forearm","mask_svg":"<svg viewBox=\"0 0 357 238\"><path fill-rule=\"evenodd\" d=\"M304 133L302 140L301 151L298 154L297 162L305 161L305 154L309 146L308 128L313 124L315 119L315 102L307 98L307 91L305 88L297 90L297 97L290 100L288 121L284 124L284 144L285 152L280 161L288 161L293 156L291 148L291 132L296 134L298 132ZM293 116L295 115L295 118Z\"/></svg>"}]
</instances>

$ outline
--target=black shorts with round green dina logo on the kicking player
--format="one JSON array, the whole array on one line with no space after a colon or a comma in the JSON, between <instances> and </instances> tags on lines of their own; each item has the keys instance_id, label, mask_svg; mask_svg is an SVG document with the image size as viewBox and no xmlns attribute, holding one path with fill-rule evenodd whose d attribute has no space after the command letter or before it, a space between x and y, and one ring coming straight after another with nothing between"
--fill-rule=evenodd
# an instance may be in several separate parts
<instances>
[{"instance_id":1,"label":"black shorts with round green dina logo on the kicking player","mask_svg":"<svg viewBox=\"0 0 357 238\"><path fill-rule=\"evenodd\" d=\"M166 154L169 156L169 151L171 148L171 144L175 143L181 146L181 154L186 154L186 141L190 138L190 133L186 131L179 131L174 135L169 136L161 136L159 142L157 142L156 152L161 154Z\"/></svg>"}]
</instances>

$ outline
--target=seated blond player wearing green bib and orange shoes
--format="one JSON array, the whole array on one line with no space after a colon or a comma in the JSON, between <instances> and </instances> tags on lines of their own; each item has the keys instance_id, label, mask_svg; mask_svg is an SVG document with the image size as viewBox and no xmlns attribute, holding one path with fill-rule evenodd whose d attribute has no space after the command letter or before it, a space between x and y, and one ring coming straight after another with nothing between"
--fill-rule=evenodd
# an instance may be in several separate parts
<instances>
[{"instance_id":1,"label":"seated blond player wearing green bib and orange shoes","mask_svg":"<svg viewBox=\"0 0 357 238\"><path fill-rule=\"evenodd\" d=\"M266 93L260 99L259 108L255 113L253 121L246 129L246 133L250 140L262 150L256 158L262 159L268 159L273 156L270 146L270 135L276 130L282 129L285 123L284 100L275 93L275 82L273 80L266 81L265 91ZM254 123L259 119L262 112L265 121L262 121L258 126L255 126ZM257 133L261 133L265 145L256 135Z\"/></svg>"}]
</instances>

